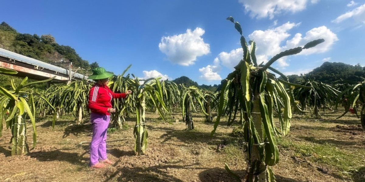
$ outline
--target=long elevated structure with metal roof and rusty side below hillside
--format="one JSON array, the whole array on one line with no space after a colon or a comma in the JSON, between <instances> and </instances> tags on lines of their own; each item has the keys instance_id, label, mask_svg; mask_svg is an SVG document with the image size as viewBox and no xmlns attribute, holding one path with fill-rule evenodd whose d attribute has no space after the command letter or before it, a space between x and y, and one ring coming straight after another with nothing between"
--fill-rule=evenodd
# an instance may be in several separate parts
<instances>
[{"instance_id":1,"label":"long elevated structure with metal roof and rusty side below hillside","mask_svg":"<svg viewBox=\"0 0 365 182\"><path fill-rule=\"evenodd\" d=\"M3 48L0 48L0 62L3 62L4 64L5 63L13 64L13 66L28 68L28 71L23 71L22 75L27 75L27 72L29 73L29 69L42 71L52 75L59 75L62 77L62 80L64 80L64 78L69 77L70 75L70 71L66 68L61 68L52 64L42 62L37 59L29 58L27 56L17 54L15 52L11 52ZM19 70L16 71L19 72ZM88 78L85 75L78 74L73 71L71 71L71 75L73 75L73 79L77 80ZM39 75L39 76L47 77L46 75Z\"/></svg>"}]
</instances>

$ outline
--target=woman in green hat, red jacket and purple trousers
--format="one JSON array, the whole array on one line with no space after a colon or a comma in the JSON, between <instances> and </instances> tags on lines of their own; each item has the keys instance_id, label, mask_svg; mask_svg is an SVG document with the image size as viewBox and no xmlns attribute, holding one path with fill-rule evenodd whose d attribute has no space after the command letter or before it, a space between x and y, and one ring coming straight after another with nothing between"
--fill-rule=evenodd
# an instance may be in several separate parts
<instances>
[{"instance_id":1,"label":"woman in green hat, red jacket and purple trousers","mask_svg":"<svg viewBox=\"0 0 365 182\"><path fill-rule=\"evenodd\" d=\"M113 74L99 67L92 70L93 74L88 79L93 79L96 83L89 92L89 108L91 110L90 120L93 126L92 139L90 144L90 166L93 168L103 168L105 164L112 165L113 161L107 158L106 143L107 128L110 121L110 113L115 112L112 108L113 98L126 98L132 91L125 93L114 93L107 86L109 77Z\"/></svg>"}]
</instances>

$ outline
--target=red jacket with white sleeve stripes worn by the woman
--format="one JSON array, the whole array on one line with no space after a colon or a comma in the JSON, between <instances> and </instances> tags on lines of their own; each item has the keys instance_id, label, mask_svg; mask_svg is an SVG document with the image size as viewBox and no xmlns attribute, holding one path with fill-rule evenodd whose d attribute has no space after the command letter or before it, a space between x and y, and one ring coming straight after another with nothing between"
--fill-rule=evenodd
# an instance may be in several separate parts
<instances>
[{"instance_id":1,"label":"red jacket with white sleeve stripes worn by the woman","mask_svg":"<svg viewBox=\"0 0 365 182\"><path fill-rule=\"evenodd\" d=\"M110 115L108 108L112 108L113 98L126 98L126 93L114 93L108 86L95 83L89 92L89 109L91 112Z\"/></svg>"}]
</instances>

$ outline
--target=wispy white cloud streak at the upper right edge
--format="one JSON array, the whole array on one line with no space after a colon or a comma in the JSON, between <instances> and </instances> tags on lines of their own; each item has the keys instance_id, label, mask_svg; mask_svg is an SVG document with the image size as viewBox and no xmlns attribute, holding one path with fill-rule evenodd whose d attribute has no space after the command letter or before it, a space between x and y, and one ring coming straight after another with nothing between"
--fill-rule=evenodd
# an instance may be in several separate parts
<instances>
[{"instance_id":1,"label":"wispy white cloud streak at the upper right edge","mask_svg":"<svg viewBox=\"0 0 365 182\"><path fill-rule=\"evenodd\" d=\"M338 16L331 22L341 23L342 21L350 18L352 18L355 24L365 24L365 4L353 9L352 11Z\"/></svg>"}]
</instances>

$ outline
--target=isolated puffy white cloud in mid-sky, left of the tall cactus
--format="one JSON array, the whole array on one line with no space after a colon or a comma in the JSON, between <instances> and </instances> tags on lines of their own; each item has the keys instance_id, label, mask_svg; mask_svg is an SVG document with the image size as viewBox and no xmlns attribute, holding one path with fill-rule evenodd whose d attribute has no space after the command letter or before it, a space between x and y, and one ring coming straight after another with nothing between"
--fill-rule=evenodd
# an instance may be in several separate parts
<instances>
[{"instance_id":1,"label":"isolated puffy white cloud in mid-sky, left of the tall cactus","mask_svg":"<svg viewBox=\"0 0 365 182\"><path fill-rule=\"evenodd\" d=\"M204 29L199 27L194 31L187 29L184 34L162 37L158 47L170 62L189 66L194 64L197 56L210 53L209 44L201 38L204 33Z\"/></svg>"}]
</instances>

